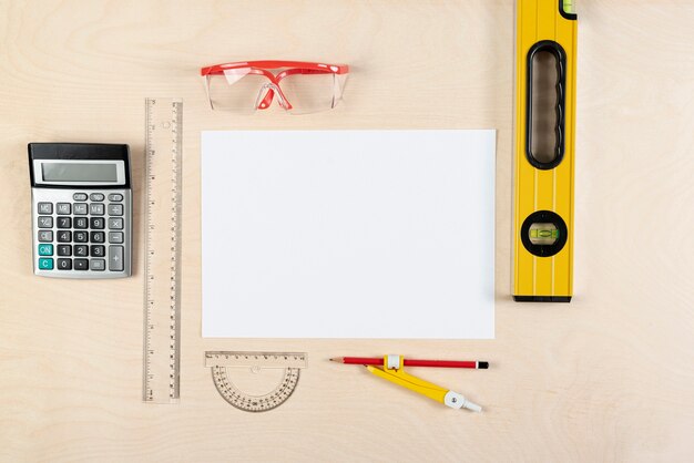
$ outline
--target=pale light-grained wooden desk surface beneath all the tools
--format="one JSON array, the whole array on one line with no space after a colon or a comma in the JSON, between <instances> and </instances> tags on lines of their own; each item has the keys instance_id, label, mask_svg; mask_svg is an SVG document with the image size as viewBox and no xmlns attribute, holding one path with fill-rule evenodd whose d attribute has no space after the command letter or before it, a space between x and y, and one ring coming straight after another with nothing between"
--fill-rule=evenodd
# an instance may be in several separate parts
<instances>
[{"instance_id":1,"label":"pale light-grained wooden desk surface beneath all the tools","mask_svg":"<svg viewBox=\"0 0 694 463\"><path fill-rule=\"evenodd\" d=\"M0 461L691 461L694 6L579 13L575 298L559 306L509 298L512 1L0 2ZM212 113L198 68L251 59L347 62L346 102ZM142 237L145 96L185 101L173 407L140 399L142 246L119 281L38 278L30 257L29 142L129 143ZM365 127L499 131L497 339L202 339L200 132ZM287 403L249 414L214 389L213 349L306 351L310 367ZM491 361L421 372L486 412L327 361L382 352Z\"/></svg>"}]
</instances>

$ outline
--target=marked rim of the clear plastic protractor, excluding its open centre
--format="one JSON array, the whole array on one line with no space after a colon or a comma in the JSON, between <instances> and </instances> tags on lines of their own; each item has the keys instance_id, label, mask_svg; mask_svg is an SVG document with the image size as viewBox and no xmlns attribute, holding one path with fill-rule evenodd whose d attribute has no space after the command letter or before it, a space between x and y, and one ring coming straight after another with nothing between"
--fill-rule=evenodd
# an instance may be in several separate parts
<instances>
[{"instance_id":1,"label":"marked rim of the clear plastic protractor, excluding its open centre","mask_svg":"<svg viewBox=\"0 0 694 463\"><path fill-rule=\"evenodd\" d=\"M306 354L299 352L205 352L205 367L212 369L212 380L229 404L246 412L265 412L282 405L294 392L299 373L307 367ZM279 384L271 392L252 395L234 384L232 369L257 373L263 369L283 369Z\"/></svg>"}]
</instances>

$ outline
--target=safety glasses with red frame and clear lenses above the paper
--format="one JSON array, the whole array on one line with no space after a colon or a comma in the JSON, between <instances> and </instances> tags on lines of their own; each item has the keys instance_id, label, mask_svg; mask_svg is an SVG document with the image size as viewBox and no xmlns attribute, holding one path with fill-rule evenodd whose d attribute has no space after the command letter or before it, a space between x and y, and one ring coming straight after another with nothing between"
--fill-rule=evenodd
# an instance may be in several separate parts
<instances>
[{"instance_id":1,"label":"safety glasses with red frame and clear lenses above the paper","mask_svg":"<svg viewBox=\"0 0 694 463\"><path fill-rule=\"evenodd\" d=\"M200 70L213 110L252 113L267 110L275 96L292 114L335 107L349 74L346 64L303 61L247 61Z\"/></svg>"}]
</instances>

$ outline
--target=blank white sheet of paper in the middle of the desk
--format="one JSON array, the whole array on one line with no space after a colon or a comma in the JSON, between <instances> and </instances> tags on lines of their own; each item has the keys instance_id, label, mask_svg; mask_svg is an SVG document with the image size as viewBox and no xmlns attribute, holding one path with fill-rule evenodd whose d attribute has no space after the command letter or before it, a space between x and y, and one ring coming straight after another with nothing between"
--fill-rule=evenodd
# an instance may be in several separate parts
<instances>
[{"instance_id":1,"label":"blank white sheet of paper in the middle of the desk","mask_svg":"<svg viewBox=\"0 0 694 463\"><path fill-rule=\"evenodd\" d=\"M203 337L493 338L494 140L203 132Z\"/></svg>"}]
</instances>

